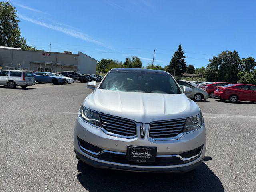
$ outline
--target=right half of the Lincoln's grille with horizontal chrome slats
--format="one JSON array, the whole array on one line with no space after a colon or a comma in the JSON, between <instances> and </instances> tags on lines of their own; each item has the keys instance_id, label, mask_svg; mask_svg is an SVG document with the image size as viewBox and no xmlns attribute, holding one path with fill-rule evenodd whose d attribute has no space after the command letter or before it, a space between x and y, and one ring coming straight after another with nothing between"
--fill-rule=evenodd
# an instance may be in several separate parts
<instances>
[{"instance_id":1,"label":"right half of the Lincoln's grille with horizontal chrome slats","mask_svg":"<svg viewBox=\"0 0 256 192\"><path fill-rule=\"evenodd\" d=\"M150 124L149 136L151 138L170 138L182 133L186 119L153 122Z\"/></svg>"}]
</instances>

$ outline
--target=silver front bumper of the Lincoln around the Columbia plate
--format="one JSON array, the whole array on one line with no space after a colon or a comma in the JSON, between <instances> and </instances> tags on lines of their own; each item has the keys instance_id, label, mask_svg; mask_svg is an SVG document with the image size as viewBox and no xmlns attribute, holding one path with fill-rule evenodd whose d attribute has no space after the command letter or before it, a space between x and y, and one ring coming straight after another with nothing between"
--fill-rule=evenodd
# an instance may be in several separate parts
<instances>
[{"instance_id":1,"label":"silver front bumper of the Lincoln around the Columbia plate","mask_svg":"<svg viewBox=\"0 0 256 192\"><path fill-rule=\"evenodd\" d=\"M138 128L138 126L137 126ZM138 130L137 130L138 132ZM148 126L146 126L146 134L148 132ZM110 159L104 159L98 156L98 154L91 154L81 149L78 138L86 141L87 143L96 146L96 148L103 149L106 153L120 154L125 157L127 145L132 146L148 146L157 147L157 158L159 157L173 157L177 154L182 154L200 146L203 146L195 158L191 160L184 159L182 163L171 164L131 164L125 161L113 161ZM152 140L150 138L136 138L126 139L118 138L105 134L101 129L96 128L79 117L77 118L75 131L74 131L74 150L76 155L87 164L97 168L110 168L132 171L146 171L146 172L187 172L200 165L204 160L206 150L206 131L204 124L194 130L193 132L182 135L176 140Z\"/></svg>"}]
</instances>

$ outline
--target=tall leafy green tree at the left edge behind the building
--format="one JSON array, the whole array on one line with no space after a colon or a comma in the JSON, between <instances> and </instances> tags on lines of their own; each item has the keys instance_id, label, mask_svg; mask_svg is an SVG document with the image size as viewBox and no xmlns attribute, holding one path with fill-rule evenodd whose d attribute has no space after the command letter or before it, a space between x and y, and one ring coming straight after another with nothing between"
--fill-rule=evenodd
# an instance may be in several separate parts
<instances>
[{"instance_id":1,"label":"tall leafy green tree at the left edge behind the building","mask_svg":"<svg viewBox=\"0 0 256 192\"><path fill-rule=\"evenodd\" d=\"M20 36L16 10L10 2L0 2L0 46L26 49L26 40Z\"/></svg>"}]
</instances>

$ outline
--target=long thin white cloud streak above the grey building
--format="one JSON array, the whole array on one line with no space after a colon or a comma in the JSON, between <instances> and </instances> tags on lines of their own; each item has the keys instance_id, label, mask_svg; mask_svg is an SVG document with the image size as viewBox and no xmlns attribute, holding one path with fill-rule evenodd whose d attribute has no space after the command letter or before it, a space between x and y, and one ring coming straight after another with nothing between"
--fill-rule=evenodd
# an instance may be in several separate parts
<instances>
[{"instance_id":1,"label":"long thin white cloud streak above the grey building","mask_svg":"<svg viewBox=\"0 0 256 192\"><path fill-rule=\"evenodd\" d=\"M58 25L48 24L48 23L42 22L40 20L35 20L35 19L32 19L32 18L28 18L28 17L26 17L26 16L24 16L20 13L17 13L17 16L20 19L26 20L28 22L31 22L31 23L34 23L34 24L37 24L37 25L40 25L40 26L58 31L58 32L62 32L62 33L67 34L69 36L73 36L75 38L82 39L82 40L87 41L87 42L92 42L92 43L98 44L100 46L109 47L106 44L104 44L103 42L95 40L95 39L91 38L90 36L88 36L85 33L78 32L78 31L71 30L71 29L67 29L67 28L64 28L64 27L58 26Z\"/></svg>"}]
</instances>

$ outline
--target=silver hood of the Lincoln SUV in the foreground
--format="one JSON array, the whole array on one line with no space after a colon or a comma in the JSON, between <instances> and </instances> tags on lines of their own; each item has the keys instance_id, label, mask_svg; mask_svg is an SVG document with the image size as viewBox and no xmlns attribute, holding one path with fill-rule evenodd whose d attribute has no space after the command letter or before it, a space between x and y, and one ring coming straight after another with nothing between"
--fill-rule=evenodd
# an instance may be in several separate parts
<instances>
[{"instance_id":1,"label":"silver hood of the Lincoln SUV in the foreground","mask_svg":"<svg viewBox=\"0 0 256 192\"><path fill-rule=\"evenodd\" d=\"M147 122L187 118L200 114L199 106L185 94L122 92L96 89L83 106L105 114Z\"/></svg>"}]
</instances>

